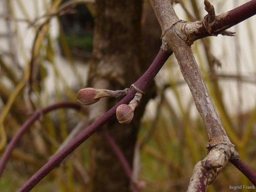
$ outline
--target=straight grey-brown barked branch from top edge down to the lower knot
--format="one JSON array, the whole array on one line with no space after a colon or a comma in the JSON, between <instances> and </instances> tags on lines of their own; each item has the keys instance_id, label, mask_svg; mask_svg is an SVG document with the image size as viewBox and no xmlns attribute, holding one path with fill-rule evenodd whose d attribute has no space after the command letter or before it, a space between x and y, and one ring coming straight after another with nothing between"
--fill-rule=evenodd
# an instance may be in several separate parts
<instances>
[{"instance_id":1,"label":"straight grey-brown barked branch from top edge down to the lower knot","mask_svg":"<svg viewBox=\"0 0 256 192\"><path fill-rule=\"evenodd\" d=\"M208 137L210 140L219 139L219 141L225 141L225 143L231 144L213 105L212 99L209 96L207 86L196 64L191 47L177 35L185 24L180 22L176 14L173 14L174 10L169 0L160 1L162 3L161 6L158 5L158 0L150 0L159 23L162 17L167 17L167 12L169 13L168 18L174 18L171 24L171 27L174 29L170 28L169 23L168 27L165 26L167 23L162 22L162 24L160 24L163 29L170 28L165 32L165 35L162 36L162 39L164 43L173 50L179 62L183 78L191 90L196 108L207 128ZM169 12L169 10L171 11ZM216 142L214 140L212 141L213 143Z\"/></svg>"}]
</instances>

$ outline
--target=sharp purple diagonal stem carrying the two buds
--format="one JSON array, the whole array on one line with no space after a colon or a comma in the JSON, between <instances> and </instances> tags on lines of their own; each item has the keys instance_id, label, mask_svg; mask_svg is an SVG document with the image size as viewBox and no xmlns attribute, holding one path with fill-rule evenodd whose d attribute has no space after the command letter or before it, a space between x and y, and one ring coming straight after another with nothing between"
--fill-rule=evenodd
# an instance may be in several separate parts
<instances>
[{"instance_id":1,"label":"sharp purple diagonal stem carrying the two buds","mask_svg":"<svg viewBox=\"0 0 256 192\"><path fill-rule=\"evenodd\" d=\"M169 58L172 52L159 50L156 59L147 69L147 71L134 83L136 87L142 91L146 91L154 77L157 75L165 61ZM119 103L112 107L107 113L101 116L98 120L88 126L83 132L75 137L70 144L64 147L58 154L53 156L40 170L37 171L20 189L18 192L29 192L34 188L37 183L42 180L53 168L58 166L61 161L73 152L80 144L82 144L88 137L94 132L97 132L99 128L107 123L112 117L115 116L116 108L121 104L128 104L135 95L134 88L131 89L129 94L125 96Z\"/></svg>"}]
</instances>

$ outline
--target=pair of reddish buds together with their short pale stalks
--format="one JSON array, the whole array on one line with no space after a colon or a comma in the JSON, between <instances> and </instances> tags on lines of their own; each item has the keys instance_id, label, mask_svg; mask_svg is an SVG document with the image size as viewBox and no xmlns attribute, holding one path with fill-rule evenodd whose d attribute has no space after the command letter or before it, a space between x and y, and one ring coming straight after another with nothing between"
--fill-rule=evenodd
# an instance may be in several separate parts
<instances>
[{"instance_id":1,"label":"pair of reddish buds together with their short pale stalks","mask_svg":"<svg viewBox=\"0 0 256 192\"><path fill-rule=\"evenodd\" d=\"M135 88L135 87L134 87ZM127 95L129 89L124 90L107 90L84 88L77 94L77 100L84 105L92 105L99 101L102 97L121 97ZM128 104L122 104L116 109L116 117L121 124L129 124L134 118L134 110L138 106L143 93L137 92L134 99Z\"/></svg>"}]
</instances>

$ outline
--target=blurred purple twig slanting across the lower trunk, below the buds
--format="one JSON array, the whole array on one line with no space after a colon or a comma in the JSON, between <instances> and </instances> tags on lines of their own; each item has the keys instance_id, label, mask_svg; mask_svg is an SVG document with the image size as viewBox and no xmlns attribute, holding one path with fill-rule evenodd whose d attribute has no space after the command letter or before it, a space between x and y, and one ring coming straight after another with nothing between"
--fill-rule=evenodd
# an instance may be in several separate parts
<instances>
[{"instance_id":1,"label":"blurred purple twig slanting across the lower trunk, below the buds","mask_svg":"<svg viewBox=\"0 0 256 192\"><path fill-rule=\"evenodd\" d=\"M103 129L102 133L103 133L103 136L106 138L107 142L110 144L111 149L113 150L113 152L116 154L116 156L120 160L122 167L123 167L127 177L131 180L134 189L137 192L141 192L141 189L139 188L139 186L137 186L137 184L133 181L132 168L129 165L127 158L122 153L120 147L116 144L115 140L111 137L111 135L109 134L109 132L106 129Z\"/></svg>"}]
</instances>

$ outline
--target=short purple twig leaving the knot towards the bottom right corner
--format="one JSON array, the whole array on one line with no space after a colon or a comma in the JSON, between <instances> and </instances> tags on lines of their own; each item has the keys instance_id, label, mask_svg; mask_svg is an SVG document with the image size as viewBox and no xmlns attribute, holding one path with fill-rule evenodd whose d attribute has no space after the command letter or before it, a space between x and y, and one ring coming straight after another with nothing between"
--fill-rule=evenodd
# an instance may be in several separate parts
<instances>
[{"instance_id":1,"label":"short purple twig leaving the knot towards the bottom right corner","mask_svg":"<svg viewBox=\"0 0 256 192\"><path fill-rule=\"evenodd\" d=\"M256 186L256 173L241 158L233 158L230 162L240 170Z\"/></svg>"}]
</instances>

